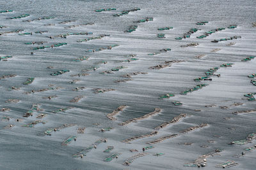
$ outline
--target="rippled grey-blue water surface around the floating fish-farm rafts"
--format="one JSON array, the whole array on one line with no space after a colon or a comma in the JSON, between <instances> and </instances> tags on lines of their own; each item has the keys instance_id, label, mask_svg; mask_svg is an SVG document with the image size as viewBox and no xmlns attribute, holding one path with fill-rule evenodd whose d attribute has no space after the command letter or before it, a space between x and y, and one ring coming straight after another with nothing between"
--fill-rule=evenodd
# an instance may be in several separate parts
<instances>
[{"instance_id":1,"label":"rippled grey-blue water surface around the floating fish-farm rafts","mask_svg":"<svg viewBox=\"0 0 256 170\"><path fill-rule=\"evenodd\" d=\"M207 159L207 169L216 169L216 164L227 160L235 160L239 165L232 169L254 169L255 151L246 152L241 158L232 155L243 152L244 148L253 146L254 143L243 146L228 145L231 141L244 139L248 134L255 132L255 113L234 115L233 111L255 109L255 102L247 101L243 95L248 92L256 92L255 86L250 83L247 75L255 73L256 61L241 62L241 59L256 55L255 48L255 1L29 1L22 3L17 1L2 0L0 10L13 10L12 13L0 13L0 25L6 28L0 32L24 29L24 32L49 31L43 34L20 36L17 33L0 36L0 55L12 55L8 61L0 61L0 76L17 74L15 78L0 80L0 108L10 108L10 111L0 112L1 117L12 117L10 122L0 122L0 169L195 169L183 165L195 160L200 155L215 150L224 149L220 156ZM116 8L116 11L104 11L97 13L94 10L100 8ZM115 13L132 8L141 8L140 11L130 12L122 17L112 17ZM7 19L29 13L26 18ZM50 20L34 22L22 22L38 17L53 16ZM134 21L145 17L154 17L154 21L138 24L138 29L132 33L124 31ZM58 24L64 20L74 20L67 24ZM209 21L206 25L196 25L198 21ZM68 25L79 25L94 22L95 25L86 25L65 29ZM55 24L45 26L45 24ZM211 34L207 38L198 39L205 31L218 27L227 28L228 25L237 24L236 29L225 29ZM168 31L157 31L159 27L172 26ZM176 40L189 29L196 27L200 31L191 35L191 38ZM93 35L75 35L65 38L50 39L47 36L56 36L67 32L93 32ZM156 37L158 33L164 33L166 38ZM99 34L110 34L102 39L93 39L78 43L77 40ZM230 36L242 36L241 39L211 43L213 39ZM47 41L45 45L54 43L68 43L58 48L45 48L44 50L31 50L33 46L25 45L26 42ZM200 45L181 48L197 42ZM227 46L235 42L236 45ZM112 50L87 53L86 50L101 48L108 45L119 45ZM158 55L148 55L163 48L172 48L170 52L161 52ZM214 48L221 48L218 52L211 52ZM34 55L30 55L31 52ZM132 62L118 62L126 60L131 53L136 54L139 60ZM196 55L204 54L202 59L196 59ZM72 61L77 57L86 55L90 59L83 62ZM107 64L95 64L101 60ZM174 63L171 67L154 70L148 67L163 64L166 60L186 60L186 62ZM212 76L212 81L202 81L209 84L203 89L189 93L186 96L180 92L194 87L194 78L204 76L204 72L211 67L219 67L223 63L233 62L232 67L221 67ZM53 66L53 69L47 69ZM88 71L90 75L72 77L72 74L81 73L81 70L92 66L99 66L96 71ZM113 67L125 66L127 68L116 71L114 74L99 74ZM58 76L50 74L61 69L70 69L69 73ZM123 79L120 76L136 71L145 71L148 74L132 76L132 81L115 83ZM22 83L29 77L35 77L30 85ZM76 83L68 81L80 80ZM33 89L39 90L53 87L63 87L60 90L36 92L35 94L23 94ZM21 87L20 90L8 90L10 87ZM75 87L86 87L81 91L73 91ZM104 94L95 94L92 89L115 89ZM159 99L166 93L175 94L170 99ZM43 99L45 96L58 96L51 100ZM79 103L69 101L76 96L84 96ZM7 99L20 99L19 103L5 103ZM180 101L183 106L174 106L173 101ZM222 110L220 106L244 103L242 106L230 107ZM44 111L34 113L33 117L23 118L22 115L30 110L32 104L41 104ZM217 107L207 108L205 105L216 104ZM118 108L127 105L116 116L117 121L108 120L106 115ZM61 113L52 113L58 108L74 107ZM154 108L162 108L163 111L154 117L147 118L124 127L118 125L131 118L141 117L154 111ZM200 109L202 111L195 111ZM46 124L38 124L35 127L22 127L36 120L39 113L45 113L43 118ZM183 118L180 122L169 125L159 130L157 136L138 139L131 144L121 141L132 136L140 136L154 131L154 127L172 120L180 113L186 113L190 117ZM223 118L230 117L230 120ZM23 122L15 122L22 118ZM93 125L99 123L100 125ZM126 159L136 153L129 152L134 148L141 152L141 148L154 139L168 134L177 133L189 127L207 123L208 127L198 129L172 139L166 139L162 143L155 144L155 148L147 150L149 155L135 160L131 166L122 164ZM12 129L4 129L8 124L13 124ZM45 130L52 127L60 127L62 124L77 124L77 126L62 129L52 133L52 136L39 136ZM84 134L77 134L77 127L86 127ZM99 129L113 127L109 132L98 132ZM236 129L228 129L236 128ZM69 136L76 135L77 141L68 146L61 143ZM214 135L220 135L215 138ZM99 138L108 138L108 143L100 144L96 150L89 152L83 159L74 159L72 155L91 146ZM208 143L207 140L214 140ZM191 146L179 145L179 143L193 143ZM208 145L208 148L200 146ZM122 155L111 162L103 160L111 153L102 152L107 146L114 146L114 152ZM152 154L162 152L165 155L155 157Z\"/></svg>"}]
</instances>

